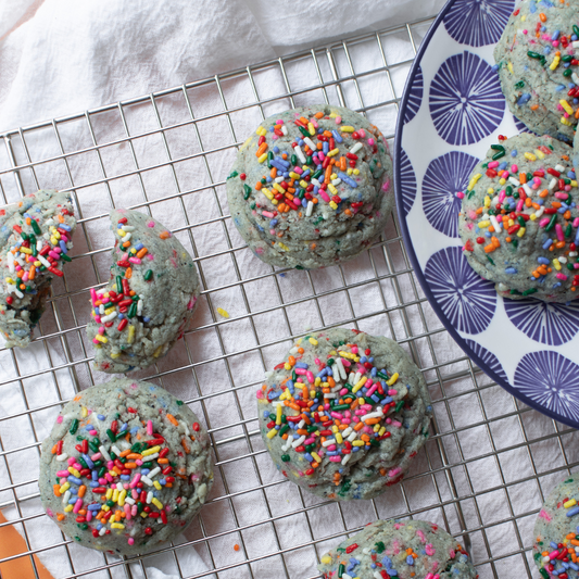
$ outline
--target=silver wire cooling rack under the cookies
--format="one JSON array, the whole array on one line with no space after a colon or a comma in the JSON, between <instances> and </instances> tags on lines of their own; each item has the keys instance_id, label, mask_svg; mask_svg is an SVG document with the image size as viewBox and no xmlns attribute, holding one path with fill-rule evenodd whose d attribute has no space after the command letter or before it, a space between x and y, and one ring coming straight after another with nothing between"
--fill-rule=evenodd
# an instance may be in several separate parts
<instances>
[{"instance_id":1,"label":"silver wire cooling rack under the cookies","mask_svg":"<svg viewBox=\"0 0 579 579\"><path fill-rule=\"evenodd\" d=\"M577 433L490 381L444 330L413 275L392 217L353 263L275 270L253 257L225 202L242 139L274 112L330 102L357 110L391 140L398 103L432 18L357 36L83 114L1 135L5 202L71 191L79 227L36 341L0 350L0 508L38 561L72 577L318 577L330 546L378 518L439 523L471 552L481 578L538 577L530 556L545 491L578 464ZM216 460L209 503L180 543L121 559L74 544L43 514L39 443L62 402L104 381L85 336L89 290L108 278L108 212L151 213L189 249L203 281L189 331L140 373L205 423ZM222 307L230 317L219 316ZM425 373L432 436L405 480L374 501L323 501L282 479L259 433L262 372L309 329L356 327L398 340ZM241 338L240 338L241 337ZM9 524L1 524L7 527ZM0 559L16 558L18 555Z\"/></svg>"}]
</instances>

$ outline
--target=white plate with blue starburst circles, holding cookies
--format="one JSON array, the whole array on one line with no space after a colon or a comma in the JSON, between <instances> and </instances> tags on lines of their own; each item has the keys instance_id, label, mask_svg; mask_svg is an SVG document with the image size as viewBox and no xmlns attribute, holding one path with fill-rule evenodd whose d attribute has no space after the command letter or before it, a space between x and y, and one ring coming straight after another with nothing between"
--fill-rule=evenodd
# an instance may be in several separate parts
<instances>
[{"instance_id":1,"label":"white plate with blue starburst circles, holding cookies","mask_svg":"<svg viewBox=\"0 0 579 579\"><path fill-rule=\"evenodd\" d=\"M579 303L504 300L470 268L457 231L456 191L499 135L526 130L493 71L514 7L450 0L428 30L397 126L398 212L416 275L461 348L526 404L579 428Z\"/></svg>"}]
</instances>

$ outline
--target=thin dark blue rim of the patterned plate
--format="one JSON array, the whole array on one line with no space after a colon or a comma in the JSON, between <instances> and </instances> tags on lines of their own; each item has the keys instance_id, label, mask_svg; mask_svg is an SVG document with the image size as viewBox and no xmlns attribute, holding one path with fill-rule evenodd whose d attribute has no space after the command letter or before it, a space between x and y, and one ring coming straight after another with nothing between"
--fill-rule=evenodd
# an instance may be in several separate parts
<instances>
[{"instance_id":1,"label":"thin dark blue rim of the patterned plate","mask_svg":"<svg viewBox=\"0 0 579 579\"><path fill-rule=\"evenodd\" d=\"M404 90L402 92L402 98L400 100L400 108L398 112L398 121L397 121L397 128L394 131L394 196L397 201L397 213L398 213L398 222L400 225L400 228L402 230L402 238L404 240L404 248L406 250L406 253L410 257L412 267L414 269L414 274L418 278L418 281L420 284L420 287L423 288L423 291L425 292L426 299L428 300L428 303L437 314L438 318L449 331L449 333L453 337L456 344L465 352L465 354L474 360L477 364L477 366L484 372L487 376L492 378L501 388L506 390L511 395L516 398L517 400L520 400L531 408L534 408L536 411L540 412L541 414L544 414L549 416L550 418L553 418L554 420L557 420L558 423L563 423L567 426L570 426L571 428L579 428L579 421L575 421L571 418L568 418L567 416L562 416L545 406L542 406L540 403L536 402L534 400L528 398L527 395L519 392L516 388L511 386L509 382L502 379L492 368L489 367L489 365L480 357L478 356L466 343L466 338L463 338L454 328L454 326L450 323L448 317L442 312L442 309L438 305L435 295L432 294L432 291L430 290L430 286L428 285L428 281L426 280L426 277L424 275L424 272L420 267L420 264L418 262L418 259L416 257L416 253L414 251L414 244L412 242L412 238L408 231L408 227L406 224L406 216L403 212L403 197L402 197L402 189L401 189L401 154L402 154L402 133L404 128L404 117L406 113L406 109L408 106L408 99L410 99L410 92L411 87L414 81L414 78L416 76L416 73L418 71L418 67L420 65L421 59L430 45L430 41L432 40L432 37L435 36L436 32L439 29L440 25L443 25L444 16L448 14L448 12L451 10L451 8L457 2L458 0L448 0L448 2L444 4L442 10L439 12L438 16L436 17L435 22L430 25L428 28L426 35L423 38L423 41L420 42L420 46L418 47L418 50L416 52L416 55L414 58L414 61L412 63L411 70L408 72L408 76L406 78L406 83L404 85ZM423 99L427 98L427 90L426 86L423 93ZM556 350L553 350L556 352ZM491 352L492 353L492 352ZM572 361L571 361L572 362ZM520 408L519 408L520 411Z\"/></svg>"}]
</instances>

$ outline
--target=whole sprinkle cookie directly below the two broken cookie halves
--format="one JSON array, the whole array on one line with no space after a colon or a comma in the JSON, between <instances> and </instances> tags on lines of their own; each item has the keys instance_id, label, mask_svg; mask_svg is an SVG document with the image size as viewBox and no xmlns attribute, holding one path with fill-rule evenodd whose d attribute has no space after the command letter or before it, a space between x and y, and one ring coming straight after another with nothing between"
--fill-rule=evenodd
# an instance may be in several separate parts
<instances>
[{"instance_id":1,"label":"whole sprinkle cookie directly below the two broken cookie halves","mask_svg":"<svg viewBox=\"0 0 579 579\"><path fill-rule=\"evenodd\" d=\"M79 544L133 555L173 540L213 484L209 436L166 390L126 378L77 394L42 442L40 498Z\"/></svg>"}]
</instances>

